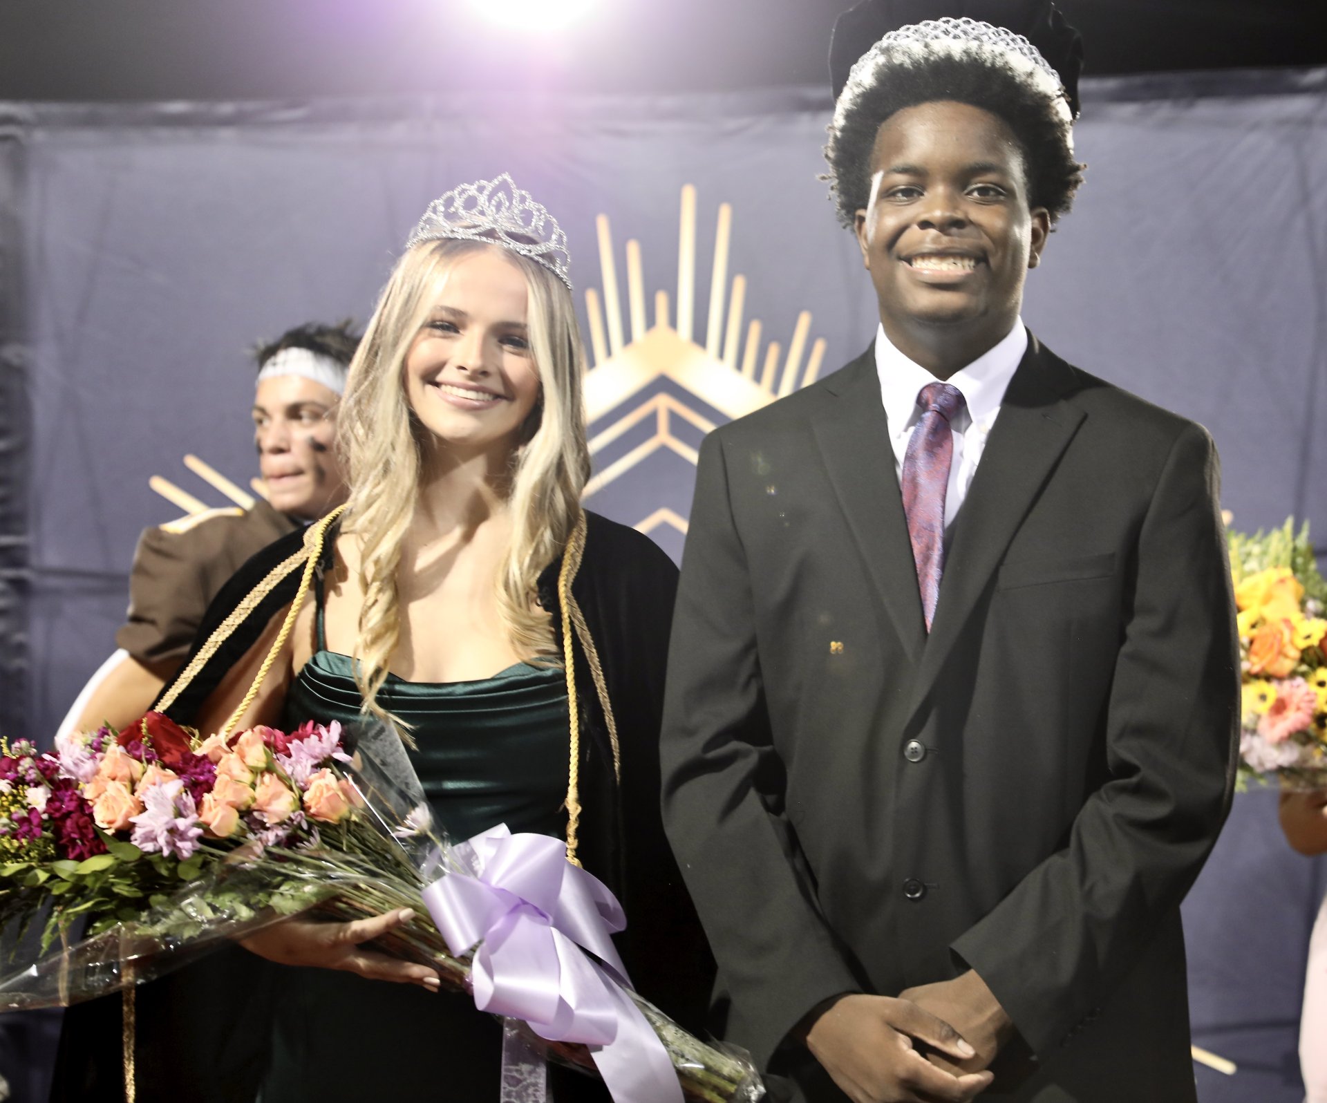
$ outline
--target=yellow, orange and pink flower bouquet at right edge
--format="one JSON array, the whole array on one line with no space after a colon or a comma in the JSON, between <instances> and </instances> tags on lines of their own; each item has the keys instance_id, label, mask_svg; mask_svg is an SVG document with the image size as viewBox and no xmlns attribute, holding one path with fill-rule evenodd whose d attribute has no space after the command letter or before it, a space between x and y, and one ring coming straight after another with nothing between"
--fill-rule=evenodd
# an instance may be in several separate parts
<instances>
[{"instance_id":1,"label":"yellow, orange and pink flower bouquet at right edge","mask_svg":"<svg viewBox=\"0 0 1327 1103\"><path fill-rule=\"evenodd\" d=\"M1239 780L1327 786L1327 581L1308 526L1229 534L1239 625Z\"/></svg>"}]
</instances>

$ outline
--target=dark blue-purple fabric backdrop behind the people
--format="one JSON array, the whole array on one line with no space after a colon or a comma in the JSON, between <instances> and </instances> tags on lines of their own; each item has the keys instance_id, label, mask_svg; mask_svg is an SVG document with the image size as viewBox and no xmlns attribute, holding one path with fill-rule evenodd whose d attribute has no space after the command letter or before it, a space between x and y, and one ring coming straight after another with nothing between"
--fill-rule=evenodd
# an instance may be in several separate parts
<instances>
[{"instance_id":1,"label":"dark blue-purple fabric backdrop behind the people","mask_svg":"<svg viewBox=\"0 0 1327 1103\"><path fill-rule=\"evenodd\" d=\"M1088 184L1028 283L1060 354L1206 425L1241 528L1327 534L1327 73L1087 81ZM698 188L697 333L721 202L747 316L784 344L802 309L825 370L874 305L825 199L820 90L658 98L491 94L317 104L0 105L0 723L50 733L113 648L138 532L178 511L200 454L255 473L245 349L364 320L410 226L454 183L511 171L556 212L579 288L596 216L677 288L678 192ZM620 275L620 280L622 276ZM653 317L653 305L650 307ZM1103 473L1108 477L1109 473ZM593 500L685 515L674 453ZM645 508L649 507L649 508ZM679 536L657 536L674 555ZM1299 1099L1295 1019L1323 863L1286 848L1270 794L1237 800L1186 905L1194 1035L1241 1063L1205 1103Z\"/></svg>"}]
</instances>

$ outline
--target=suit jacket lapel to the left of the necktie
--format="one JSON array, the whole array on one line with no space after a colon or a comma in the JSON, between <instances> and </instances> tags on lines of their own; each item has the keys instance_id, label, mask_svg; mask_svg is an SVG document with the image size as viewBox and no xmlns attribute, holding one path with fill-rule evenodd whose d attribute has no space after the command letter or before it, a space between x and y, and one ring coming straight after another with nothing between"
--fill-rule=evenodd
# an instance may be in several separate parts
<instances>
[{"instance_id":1,"label":"suit jacket lapel to the left of the necktie","mask_svg":"<svg viewBox=\"0 0 1327 1103\"><path fill-rule=\"evenodd\" d=\"M812 433L880 599L916 660L926 625L873 346L827 380L825 389L833 398L813 415Z\"/></svg>"}]
</instances>

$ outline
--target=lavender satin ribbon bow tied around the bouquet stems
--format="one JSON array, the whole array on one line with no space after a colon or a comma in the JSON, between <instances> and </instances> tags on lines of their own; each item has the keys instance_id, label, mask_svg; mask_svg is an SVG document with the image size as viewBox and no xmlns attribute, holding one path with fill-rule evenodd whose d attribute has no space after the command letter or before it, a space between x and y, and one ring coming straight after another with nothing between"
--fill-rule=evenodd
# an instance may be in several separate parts
<instances>
[{"instance_id":1,"label":"lavender satin ribbon bow tied around the bouquet stems","mask_svg":"<svg viewBox=\"0 0 1327 1103\"><path fill-rule=\"evenodd\" d=\"M667 1051L625 992L609 936L626 916L604 883L567 861L560 840L506 824L453 855L470 872L447 873L423 900L454 954L479 946L475 1006L588 1046L614 1103L682 1103Z\"/></svg>"}]
</instances>

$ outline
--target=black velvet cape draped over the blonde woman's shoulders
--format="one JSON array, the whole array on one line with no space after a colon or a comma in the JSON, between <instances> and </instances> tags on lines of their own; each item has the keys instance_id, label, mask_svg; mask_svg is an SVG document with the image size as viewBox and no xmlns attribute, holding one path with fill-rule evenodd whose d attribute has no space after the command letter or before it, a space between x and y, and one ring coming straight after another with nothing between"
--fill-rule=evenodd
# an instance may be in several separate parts
<instances>
[{"instance_id":1,"label":"black velvet cape draped over the blonde woman's shoulders","mask_svg":"<svg viewBox=\"0 0 1327 1103\"><path fill-rule=\"evenodd\" d=\"M642 534L587 514L587 540L571 592L594 641L616 719L621 780L583 648L573 648L580 698L581 769L579 856L621 901L628 928L616 936L637 990L693 1033L706 1021L714 962L664 836L660 815L658 731L664 674L677 591L677 567ZM334 539L336 528L328 534ZM280 563L299 552L304 532L268 546L236 572L208 608L194 649ZM539 600L552 612L561 653L557 579L561 557L540 575ZM166 710L188 725L224 674L296 596L291 571L226 638ZM187 665L187 664L186 664ZM137 990L137 1100L235 1103L252 1099L265 1068L271 966L238 946L141 985ZM478 1011L476 1011L478 1014ZM53 1103L121 1103L121 998L70 1007L57 1058ZM390 1086L385 1058L384 1086Z\"/></svg>"}]
</instances>

